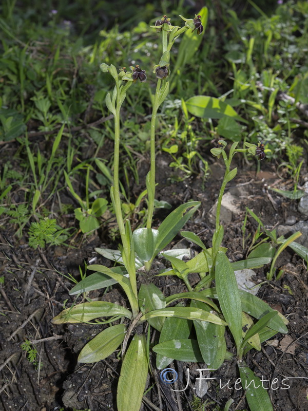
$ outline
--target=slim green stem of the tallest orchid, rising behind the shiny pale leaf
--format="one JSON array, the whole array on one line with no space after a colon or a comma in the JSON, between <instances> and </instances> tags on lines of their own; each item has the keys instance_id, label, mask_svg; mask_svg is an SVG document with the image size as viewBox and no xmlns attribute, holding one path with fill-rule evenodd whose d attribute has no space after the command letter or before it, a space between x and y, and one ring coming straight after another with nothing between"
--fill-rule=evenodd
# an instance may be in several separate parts
<instances>
[{"instance_id":1,"label":"slim green stem of the tallest orchid, rising behind the shiny pale leaf","mask_svg":"<svg viewBox=\"0 0 308 411\"><path fill-rule=\"evenodd\" d=\"M155 199L155 170L156 170L156 163L155 163L155 126L156 126L156 116L158 111L158 100L160 95L161 89L161 79L158 79L156 92L154 97L153 103L153 110L152 110L152 118L151 118L151 134L150 134L150 190L151 195L148 196L149 204L148 204L148 216L146 222L146 228L151 228L152 226L152 218L153 218L153 211L154 211L154 199Z\"/></svg>"}]
</instances>

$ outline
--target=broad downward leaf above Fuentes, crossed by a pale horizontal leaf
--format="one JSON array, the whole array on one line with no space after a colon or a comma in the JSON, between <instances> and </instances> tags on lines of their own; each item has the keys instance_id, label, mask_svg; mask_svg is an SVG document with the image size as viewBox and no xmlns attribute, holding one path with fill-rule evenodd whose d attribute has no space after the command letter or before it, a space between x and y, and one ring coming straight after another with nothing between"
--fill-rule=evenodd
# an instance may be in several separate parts
<instances>
[{"instance_id":1,"label":"broad downward leaf above Fuentes, crossed by a pale horizontal leaf","mask_svg":"<svg viewBox=\"0 0 308 411\"><path fill-rule=\"evenodd\" d=\"M200 301L192 300L190 307L200 308L204 311L210 311L210 308ZM194 321L194 326L197 335L199 349L205 364L210 364L214 361L218 350L217 328L223 327L207 321Z\"/></svg>"}]
</instances>

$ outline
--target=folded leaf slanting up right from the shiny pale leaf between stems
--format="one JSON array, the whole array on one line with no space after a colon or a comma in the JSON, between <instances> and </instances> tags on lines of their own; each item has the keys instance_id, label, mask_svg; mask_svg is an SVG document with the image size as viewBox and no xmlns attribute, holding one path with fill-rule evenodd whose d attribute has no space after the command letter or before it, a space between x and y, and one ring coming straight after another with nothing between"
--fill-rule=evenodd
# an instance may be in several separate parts
<instances>
[{"instance_id":1,"label":"folded leaf slanting up right from the shiny pale leaf between stems","mask_svg":"<svg viewBox=\"0 0 308 411\"><path fill-rule=\"evenodd\" d=\"M186 202L172 211L161 223L158 231L156 254L165 248L174 239L192 214L200 207L199 201Z\"/></svg>"}]
</instances>

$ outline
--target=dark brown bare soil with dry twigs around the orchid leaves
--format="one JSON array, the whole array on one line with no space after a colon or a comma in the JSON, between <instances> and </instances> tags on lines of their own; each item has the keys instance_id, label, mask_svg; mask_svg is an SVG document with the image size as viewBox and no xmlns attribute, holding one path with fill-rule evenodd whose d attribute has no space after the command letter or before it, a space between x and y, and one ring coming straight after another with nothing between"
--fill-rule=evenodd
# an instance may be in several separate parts
<instances>
[{"instance_id":1,"label":"dark brown bare soil with dry twigs around the orchid leaves","mask_svg":"<svg viewBox=\"0 0 308 411\"><path fill-rule=\"evenodd\" d=\"M7 153L3 147L1 157L5 158L5 155ZM190 199L201 201L201 207L187 223L185 230L197 233L205 245L210 247L214 226L209 222L208 215L217 199L224 170L222 161L214 162L210 156L207 159L212 163L213 174L205 183L201 174L175 183L170 182L175 174L168 167L170 158L166 154L160 155L157 199L168 201L172 208ZM241 227L246 207L260 216L268 229L284 224L287 216L295 216L296 221L304 219L297 211L296 201L276 196L274 192L271 196L268 195L267 185L275 183L277 186L279 182L279 188L283 188L287 187L287 181L280 179L274 166L271 168L265 161L261 166L263 171L256 175L253 171L255 163L238 164L238 177L227 185L226 191L237 188L241 193L238 196L238 212L233 213L231 221L225 225L224 246L228 248L227 255L233 261L245 256L250 241L247 240L243 249ZM141 160L140 181L144 181L147 169L148 163L145 159ZM143 189L132 182L132 193L138 195ZM154 225L159 225L168 212L157 212ZM75 223L73 216L68 216L66 223ZM73 284L63 274L70 273L79 280L79 266L84 267L84 262L89 264L93 259L95 264L110 266L110 261L94 251L94 247L117 247L116 242L107 235L108 227L98 230L90 237L80 235L75 239L74 247L47 247L44 250L30 248L24 238L14 236L14 229L16 228L6 220L0 231L0 276L4 275L4 284L0 285L0 409L51 411L66 407L67 410L117 410L116 390L121 365L121 360L116 355L118 352L96 364L77 362L82 347L103 327L88 324L53 325L50 322L63 309L64 302L66 306L70 306L75 300L75 296L69 295ZM246 235L253 236L256 229L256 222L248 218ZM171 246L191 246L192 252L200 251L180 235L172 241ZM168 266L167 261L159 258L150 273L140 271L138 283L153 282L166 296L186 291L177 277L155 276L165 266ZM254 281L256 284L262 283L258 296L290 321L288 334L276 334L271 342L262 344L261 351L249 351L246 363L260 378L263 376L264 380L274 381L269 394L276 411L304 411L308 409L307 270L304 261L288 249L279 257L277 267L285 269L279 281L265 282L268 267L255 270ZM190 279L193 283L198 278L191 276ZM124 300L122 291L117 286L107 292L92 291L89 297L114 303L123 303ZM81 298L78 302L81 302ZM226 335L227 348L235 353L232 338L230 334ZM152 339L155 339L155 335ZM31 346L37 350L36 363L29 361L29 353L21 347L25 340L30 340ZM206 368L205 364L177 361L171 364L170 367L176 369L179 375L175 386L172 385L174 389L185 388L189 369L188 387L177 392L160 381L155 361L151 360L153 375L147 382L149 390L143 403L144 410L203 409L201 406L196 408L197 400L194 397L197 392L198 369ZM206 375L209 374L204 371L203 377ZM218 409L217 406L223 408L230 398L234 400L230 410L247 407L244 391L236 385L239 378L236 360L225 361L220 369L210 372L210 377L216 379L208 380L207 393L201 399L205 410ZM283 385L286 377L293 378L284 380L286 385ZM226 385L228 381L229 384ZM192 404L195 404L194 408Z\"/></svg>"}]
</instances>

